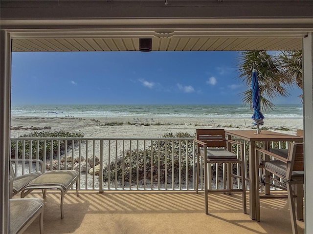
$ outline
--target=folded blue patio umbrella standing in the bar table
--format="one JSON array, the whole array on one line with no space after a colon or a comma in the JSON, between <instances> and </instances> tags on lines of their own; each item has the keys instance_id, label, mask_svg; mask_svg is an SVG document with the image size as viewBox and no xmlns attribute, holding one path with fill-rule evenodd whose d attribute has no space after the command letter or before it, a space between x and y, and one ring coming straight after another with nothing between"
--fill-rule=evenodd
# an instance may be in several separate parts
<instances>
[{"instance_id":1,"label":"folded blue patio umbrella standing in the bar table","mask_svg":"<svg viewBox=\"0 0 313 234\"><path fill-rule=\"evenodd\" d=\"M260 133L259 125L264 124L264 121L263 121L264 116L260 112L260 109L261 109L260 90L259 90L258 74L256 70L252 71L252 106L253 106L254 112L251 118L254 120L257 133Z\"/></svg>"}]
</instances>

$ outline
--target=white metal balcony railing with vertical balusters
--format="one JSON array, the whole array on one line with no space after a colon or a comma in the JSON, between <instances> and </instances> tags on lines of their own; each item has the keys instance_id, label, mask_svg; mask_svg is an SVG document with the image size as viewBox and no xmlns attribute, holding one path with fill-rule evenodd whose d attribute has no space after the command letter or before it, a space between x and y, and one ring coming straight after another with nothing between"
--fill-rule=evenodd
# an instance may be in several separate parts
<instances>
[{"instance_id":1,"label":"white metal balcony railing with vertical balusters","mask_svg":"<svg viewBox=\"0 0 313 234\"><path fill-rule=\"evenodd\" d=\"M195 190L193 139L15 137L11 138L11 157L27 159L31 155L32 159L42 159L45 170L77 170L80 190ZM246 142L244 146L246 155ZM216 176L220 174L219 166L212 166L215 167L212 187L219 188ZM14 168L17 175L40 170L38 163L15 163ZM202 178L201 170L201 189ZM234 186L240 186L239 179Z\"/></svg>"}]
</instances>

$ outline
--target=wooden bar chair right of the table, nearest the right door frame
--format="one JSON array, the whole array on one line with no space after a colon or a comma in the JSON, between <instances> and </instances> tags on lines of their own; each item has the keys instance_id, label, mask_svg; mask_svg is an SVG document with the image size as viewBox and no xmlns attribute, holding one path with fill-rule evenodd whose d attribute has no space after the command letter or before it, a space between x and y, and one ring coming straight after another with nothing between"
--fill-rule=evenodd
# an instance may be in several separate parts
<instances>
[{"instance_id":1,"label":"wooden bar chair right of the table, nearest the right door frame","mask_svg":"<svg viewBox=\"0 0 313 234\"><path fill-rule=\"evenodd\" d=\"M268 172L268 174L266 175L273 175L273 177L269 177L268 180L264 180L263 183L268 183L270 186L287 190L292 234L298 233L296 219L303 219L303 153L303 143L290 143L287 158L276 155L270 151L258 147L255 148L255 155L260 156L261 154L263 154L263 156L271 156L274 158L274 160L263 160L259 165L263 170ZM292 187L294 188L294 191ZM260 198L275 198L275 196L257 195L256 197L257 217L259 217L260 220ZM282 198L282 196L276 197ZM296 197L297 205L295 205L294 197Z\"/></svg>"}]
</instances>

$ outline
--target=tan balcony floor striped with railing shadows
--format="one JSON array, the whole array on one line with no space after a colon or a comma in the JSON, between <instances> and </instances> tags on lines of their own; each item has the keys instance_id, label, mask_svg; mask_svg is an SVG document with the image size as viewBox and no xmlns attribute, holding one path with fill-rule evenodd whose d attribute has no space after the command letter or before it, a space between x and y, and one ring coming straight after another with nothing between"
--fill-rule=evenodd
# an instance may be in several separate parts
<instances>
[{"instance_id":1,"label":"tan balcony floor striped with railing shadows","mask_svg":"<svg viewBox=\"0 0 313 234\"><path fill-rule=\"evenodd\" d=\"M203 192L74 191L65 195L60 215L60 194L45 197L45 234L290 234L287 199L261 200L261 222L242 213L240 194L209 194L209 215L204 214ZM15 197L19 197L16 195ZM27 197L41 197L33 192ZM248 194L247 194L248 198ZM247 213L249 213L247 203ZM304 222L297 221L299 234ZM37 218L25 234L39 233Z\"/></svg>"}]
</instances>

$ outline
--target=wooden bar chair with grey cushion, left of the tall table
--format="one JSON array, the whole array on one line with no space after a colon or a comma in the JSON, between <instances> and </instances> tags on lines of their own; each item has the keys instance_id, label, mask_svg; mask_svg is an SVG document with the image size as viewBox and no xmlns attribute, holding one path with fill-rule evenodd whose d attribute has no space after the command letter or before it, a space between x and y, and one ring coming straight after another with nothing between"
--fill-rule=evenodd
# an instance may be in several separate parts
<instances>
[{"instance_id":1,"label":"wooden bar chair with grey cushion, left of the tall table","mask_svg":"<svg viewBox=\"0 0 313 234\"><path fill-rule=\"evenodd\" d=\"M237 192L242 193L242 206L243 213L246 214L246 179L245 179L245 164L243 157L243 143L226 140L224 129L197 129L197 139L194 142L197 145L197 175L196 175L196 192L199 190L199 170L200 156L204 160L204 204L205 214L208 214L208 193L229 193ZM240 148L240 156L231 153L226 150L231 150L231 144L236 144ZM227 181L224 179L224 189L212 189L211 185L211 173L212 163L223 163L227 165ZM237 163L237 170L241 171L241 176L234 175L232 173L232 163ZM239 167L240 165L240 167ZM223 167L225 168L225 167ZM216 170L218 171L218 170ZM225 171L223 172L225 175ZM218 177L218 175L216 175ZM242 188L233 189L232 178L241 178ZM225 188L225 182L227 182L227 189ZM208 185L209 184L209 185ZM238 185L239 186L239 185Z\"/></svg>"}]
</instances>

